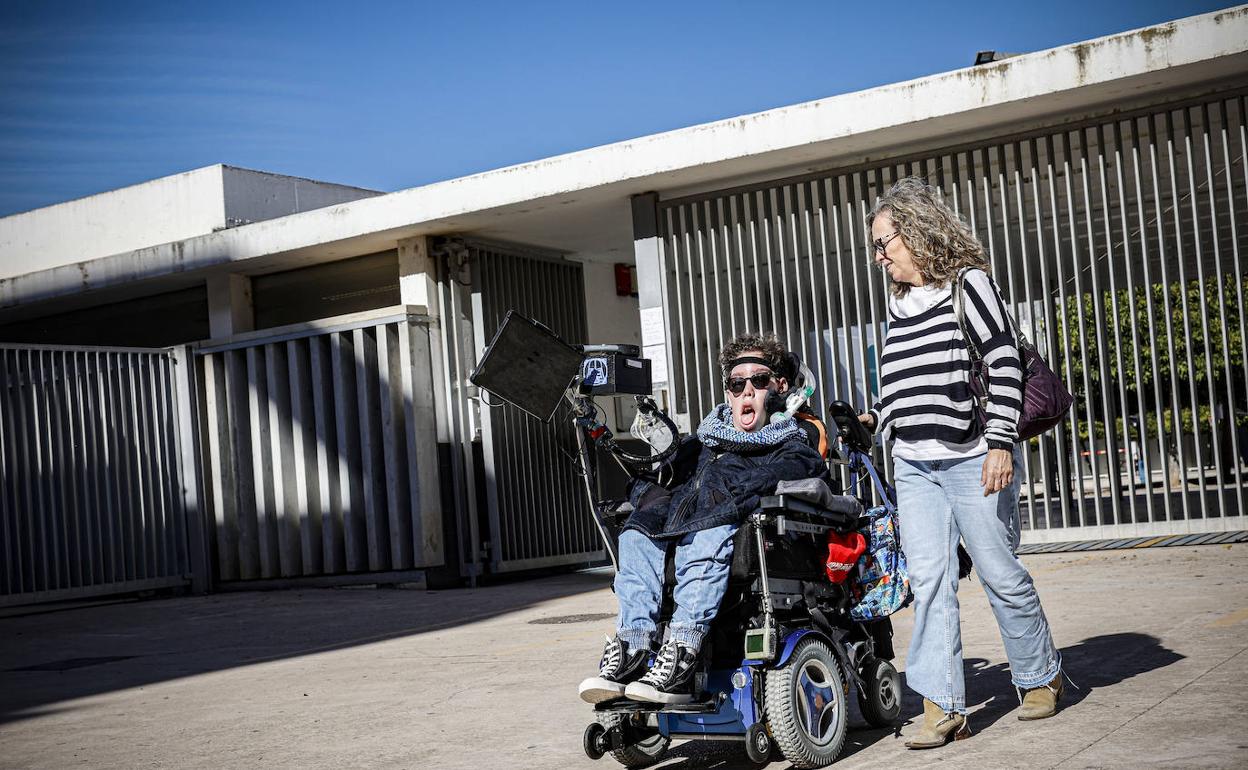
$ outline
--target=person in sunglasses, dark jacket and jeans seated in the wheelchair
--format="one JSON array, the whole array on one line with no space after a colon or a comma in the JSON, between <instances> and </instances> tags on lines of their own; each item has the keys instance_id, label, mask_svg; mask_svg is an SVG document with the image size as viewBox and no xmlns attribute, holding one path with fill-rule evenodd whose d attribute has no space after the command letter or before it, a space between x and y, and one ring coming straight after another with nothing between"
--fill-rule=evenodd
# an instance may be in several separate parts
<instances>
[{"instance_id":1,"label":"person in sunglasses, dark jacket and jeans seated in the wheelchair","mask_svg":"<svg viewBox=\"0 0 1248 770\"><path fill-rule=\"evenodd\" d=\"M791 358L770 334L743 334L719 356L725 403L716 406L675 457L629 490L634 512L619 537L615 636L582 699L679 704L696 695L703 639L728 587L733 540L776 483L826 478L827 467L792 417L775 423L795 377ZM648 668L664 595L668 550L675 548L675 609Z\"/></svg>"}]
</instances>

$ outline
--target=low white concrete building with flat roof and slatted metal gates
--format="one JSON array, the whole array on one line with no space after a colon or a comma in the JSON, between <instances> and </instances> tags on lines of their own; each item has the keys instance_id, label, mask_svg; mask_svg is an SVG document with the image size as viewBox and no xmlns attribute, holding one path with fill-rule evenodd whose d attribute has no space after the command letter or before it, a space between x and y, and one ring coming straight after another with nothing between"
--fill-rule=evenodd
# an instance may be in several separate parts
<instances>
[{"instance_id":1,"label":"low white concrete building with flat roof and slatted metal gates","mask_svg":"<svg viewBox=\"0 0 1248 770\"><path fill-rule=\"evenodd\" d=\"M141 389L125 368L137 352L92 368L74 356L97 353L46 346L191 343L176 358L192 366L136 371L167 401L151 423L177 428L162 457L185 493L161 495L191 523L170 537L211 582L594 560L565 428L483 408L467 383L503 313L643 343L686 428L716 398L711 356L746 328L801 351L822 403L861 406L885 318L861 216L917 173L980 232L1080 397L1030 453L1025 538L1242 527L1246 74L1239 6L386 195L215 166L5 217L0 339L20 344L4 377L30 413L2 426L5 467L49 444L60 402L40 407L39 387L64 367L119 413L110 388ZM620 265L636 297L617 292ZM1068 328L1081 317L1094 344ZM1158 351L1192 366L1162 377ZM61 387L72 406L77 386ZM94 509L75 483L9 490L6 544L25 559L9 594L140 579L129 563L41 575L52 539L21 545L30 512L74 499L65 537L100 527L74 523Z\"/></svg>"}]
</instances>

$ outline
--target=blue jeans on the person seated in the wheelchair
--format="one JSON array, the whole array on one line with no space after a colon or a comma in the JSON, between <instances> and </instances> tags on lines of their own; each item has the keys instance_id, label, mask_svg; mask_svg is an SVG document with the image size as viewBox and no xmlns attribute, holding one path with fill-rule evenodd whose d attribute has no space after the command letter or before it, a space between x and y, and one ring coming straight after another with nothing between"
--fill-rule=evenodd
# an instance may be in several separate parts
<instances>
[{"instance_id":1,"label":"blue jeans on the person seated in the wheelchair","mask_svg":"<svg viewBox=\"0 0 1248 770\"><path fill-rule=\"evenodd\" d=\"M668 624L669 638L694 650L719 612L733 564L736 524L691 532L676 543L676 609ZM618 635L629 646L649 646L663 603L663 568L669 543L653 540L635 529L620 534L620 569L615 598L620 603Z\"/></svg>"}]
</instances>

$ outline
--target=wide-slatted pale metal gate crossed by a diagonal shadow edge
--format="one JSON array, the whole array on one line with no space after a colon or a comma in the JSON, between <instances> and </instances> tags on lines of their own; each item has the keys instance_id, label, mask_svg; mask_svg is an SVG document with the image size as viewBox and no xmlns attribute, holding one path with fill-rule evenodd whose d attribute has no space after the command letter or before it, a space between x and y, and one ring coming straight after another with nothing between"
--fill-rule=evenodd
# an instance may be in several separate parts
<instances>
[{"instance_id":1,"label":"wide-slatted pale metal gate crossed by a diagonal shadow edge","mask_svg":"<svg viewBox=\"0 0 1248 770\"><path fill-rule=\"evenodd\" d=\"M443 563L429 324L398 306L196 351L220 580Z\"/></svg>"}]
</instances>

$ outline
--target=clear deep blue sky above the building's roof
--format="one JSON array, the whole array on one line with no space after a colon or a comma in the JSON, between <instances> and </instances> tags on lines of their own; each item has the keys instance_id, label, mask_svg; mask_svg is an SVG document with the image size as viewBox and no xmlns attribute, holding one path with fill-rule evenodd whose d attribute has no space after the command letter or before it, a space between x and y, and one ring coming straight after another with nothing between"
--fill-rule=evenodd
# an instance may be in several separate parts
<instances>
[{"instance_id":1,"label":"clear deep blue sky above the building's roof","mask_svg":"<svg viewBox=\"0 0 1248 770\"><path fill-rule=\"evenodd\" d=\"M0 2L0 215L223 162L401 190L1226 2Z\"/></svg>"}]
</instances>

